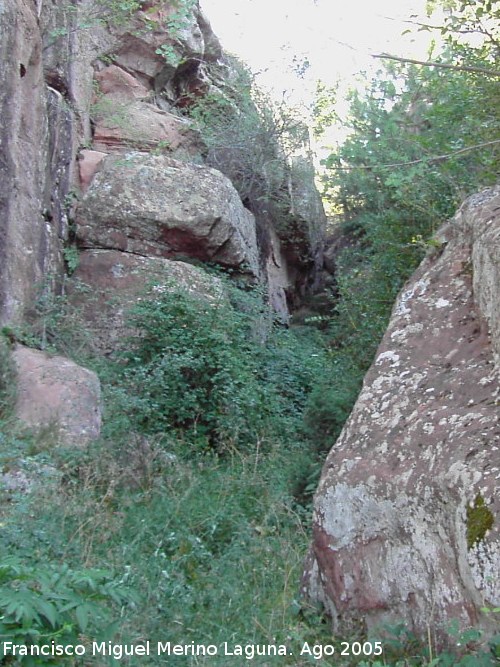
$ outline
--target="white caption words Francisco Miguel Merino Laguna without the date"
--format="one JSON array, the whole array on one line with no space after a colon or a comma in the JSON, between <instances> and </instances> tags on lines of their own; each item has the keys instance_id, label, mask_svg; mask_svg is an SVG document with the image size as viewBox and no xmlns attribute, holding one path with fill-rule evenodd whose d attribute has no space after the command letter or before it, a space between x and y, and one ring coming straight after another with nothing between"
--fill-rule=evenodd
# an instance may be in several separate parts
<instances>
[{"instance_id":1,"label":"white caption words Francisco Miguel Merino Laguna without the date","mask_svg":"<svg viewBox=\"0 0 500 667\"><path fill-rule=\"evenodd\" d=\"M283 644L230 644L224 642L222 646L215 644L173 644L172 642L144 642L144 644L113 644L112 642L92 642L84 644L49 644L26 645L14 642L1 642L0 655L8 656L84 656L102 655L121 660L127 656L148 655L193 655L214 656L234 655L252 660L256 656L288 655L289 651Z\"/></svg>"}]
</instances>

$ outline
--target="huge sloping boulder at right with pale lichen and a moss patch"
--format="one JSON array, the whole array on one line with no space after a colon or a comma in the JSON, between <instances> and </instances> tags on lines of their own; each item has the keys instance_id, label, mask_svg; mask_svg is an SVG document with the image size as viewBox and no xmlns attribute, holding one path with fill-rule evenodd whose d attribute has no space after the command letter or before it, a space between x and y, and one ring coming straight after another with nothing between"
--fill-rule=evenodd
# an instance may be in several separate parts
<instances>
[{"instance_id":1,"label":"huge sloping boulder at right with pale lichen and a moss patch","mask_svg":"<svg viewBox=\"0 0 500 667\"><path fill-rule=\"evenodd\" d=\"M499 234L500 189L441 231L327 458L305 590L337 627L439 636L500 604Z\"/></svg>"}]
</instances>

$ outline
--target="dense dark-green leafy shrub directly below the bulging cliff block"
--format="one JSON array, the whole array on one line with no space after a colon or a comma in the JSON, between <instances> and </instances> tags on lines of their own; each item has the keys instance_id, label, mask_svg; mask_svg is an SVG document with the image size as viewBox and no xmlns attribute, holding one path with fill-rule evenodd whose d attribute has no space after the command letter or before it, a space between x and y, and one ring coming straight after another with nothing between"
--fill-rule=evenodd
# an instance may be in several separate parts
<instances>
[{"instance_id":1,"label":"dense dark-green leafy shrub directly below the bulging cliff block","mask_svg":"<svg viewBox=\"0 0 500 667\"><path fill-rule=\"evenodd\" d=\"M207 445L256 441L269 408L248 315L224 296L167 287L135 306L131 323L138 334L122 378L143 432L174 429Z\"/></svg>"}]
</instances>

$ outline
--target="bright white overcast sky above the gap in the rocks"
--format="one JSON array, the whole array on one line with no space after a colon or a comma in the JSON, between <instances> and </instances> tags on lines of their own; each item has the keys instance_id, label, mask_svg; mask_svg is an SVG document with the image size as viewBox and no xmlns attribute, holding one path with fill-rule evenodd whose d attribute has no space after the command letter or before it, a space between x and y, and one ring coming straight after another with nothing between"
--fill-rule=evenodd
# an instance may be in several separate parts
<instances>
[{"instance_id":1,"label":"bright white overcast sky above the gap in the rocks","mask_svg":"<svg viewBox=\"0 0 500 667\"><path fill-rule=\"evenodd\" d=\"M279 99L310 103L316 80L346 89L360 70L375 69L370 53L425 58L428 33L401 36L425 0L201 0L224 48L245 61L257 82ZM307 60L303 78L293 63Z\"/></svg>"}]
</instances>

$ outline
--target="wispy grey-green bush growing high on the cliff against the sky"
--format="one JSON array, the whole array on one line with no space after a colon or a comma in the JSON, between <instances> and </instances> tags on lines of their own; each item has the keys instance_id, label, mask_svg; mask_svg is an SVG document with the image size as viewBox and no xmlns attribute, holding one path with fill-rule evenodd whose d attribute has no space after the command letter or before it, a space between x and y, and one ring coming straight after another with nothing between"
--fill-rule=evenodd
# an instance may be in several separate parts
<instances>
[{"instance_id":1,"label":"wispy grey-green bush growing high on the cliff against the sky","mask_svg":"<svg viewBox=\"0 0 500 667\"><path fill-rule=\"evenodd\" d=\"M226 62L221 71L220 65L212 66L214 91L188 107L206 145L206 163L231 179L256 216L264 251L270 220L282 240L293 245L298 222L293 214L293 170L298 168L293 158L308 149L307 127L284 101L276 103L260 91L236 58L226 56ZM229 84L223 79L228 69Z\"/></svg>"}]
</instances>

